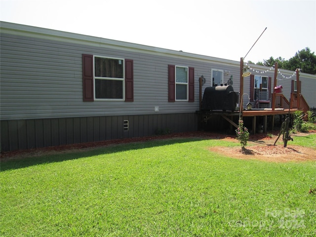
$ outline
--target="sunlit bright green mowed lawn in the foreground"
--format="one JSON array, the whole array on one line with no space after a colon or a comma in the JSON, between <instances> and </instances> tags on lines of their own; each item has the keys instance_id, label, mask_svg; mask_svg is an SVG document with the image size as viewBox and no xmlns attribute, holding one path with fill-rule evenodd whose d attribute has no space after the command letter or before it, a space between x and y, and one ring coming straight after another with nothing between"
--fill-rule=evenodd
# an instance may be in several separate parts
<instances>
[{"instance_id":1,"label":"sunlit bright green mowed lawn in the foreground","mask_svg":"<svg viewBox=\"0 0 316 237\"><path fill-rule=\"evenodd\" d=\"M293 143L307 139L316 143ZM155 140L1 162L0 235L316 235L316 162L240 160L210 146L239 144Z\"/></svg>"}]
</instances>

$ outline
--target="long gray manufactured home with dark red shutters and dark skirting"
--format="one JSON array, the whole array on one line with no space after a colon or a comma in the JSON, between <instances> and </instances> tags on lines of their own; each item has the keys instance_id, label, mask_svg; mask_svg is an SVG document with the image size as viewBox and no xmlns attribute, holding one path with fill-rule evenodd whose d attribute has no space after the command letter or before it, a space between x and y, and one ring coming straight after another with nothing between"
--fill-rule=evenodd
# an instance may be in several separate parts
<instances>
[{"instance_id":1,"label":"long gray manufactured home with dark red shutters and dark skirting","mask_svg":"<svg viewBox=\"0 0 316 237\"><path fill-rule=\"evenodd\" d=\"M196 131L201 76L202 91L229 80L239 91L239 61L7 22L0 37L1 151ZM280 72L286 96L295 78ZM316 107L316 76L300 81Z\"/></svg>"}]
</instances>

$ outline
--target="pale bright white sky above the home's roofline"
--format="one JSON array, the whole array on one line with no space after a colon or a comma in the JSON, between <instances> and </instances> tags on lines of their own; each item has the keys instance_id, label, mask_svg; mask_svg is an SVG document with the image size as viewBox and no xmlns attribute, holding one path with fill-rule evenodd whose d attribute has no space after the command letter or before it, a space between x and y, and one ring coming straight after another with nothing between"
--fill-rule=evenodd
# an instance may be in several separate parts
<instances>
[{"instance_id":1,"label":"pale bright white sky above the home's roofline","mask_svg":"<svg viewBox=\"0 0 316 237\"><path fill-rule=\"evenodd\" d=\"M0 0L0 20L257 63L316 52L316 0Z\"/></svg>"}]
</instances>

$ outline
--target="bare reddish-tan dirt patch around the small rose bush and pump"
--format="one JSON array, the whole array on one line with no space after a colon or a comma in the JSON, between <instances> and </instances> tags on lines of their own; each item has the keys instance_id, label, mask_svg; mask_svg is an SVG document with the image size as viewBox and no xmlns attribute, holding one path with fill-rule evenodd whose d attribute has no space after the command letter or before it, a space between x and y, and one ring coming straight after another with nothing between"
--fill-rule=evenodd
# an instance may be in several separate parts
<instances>
[{"instance_id":1,"label":"bare reddish-tan dirt patch around the small rose bush and pump","mask_svg":"<svg viewBox=\"0 0 316 237\"><path fill-rule=\"evenodd\" d=\"M312 133L297 133L291 135L293 139L295 136L307 136ZM316 150L307 147L291 145L291 141L287 146L283 146L282 137L280 137L274 146L277 136L263 137L257 140L248 141L246 149L242 150L240 147L211 147L210 151L221 153L225 156L238 159L258 159L269 162L288 162L288 161L316 161ZM232 141L232 138L225 138ZM237 139L234 139L238 142Z\"/></svg>"}]
</instances>

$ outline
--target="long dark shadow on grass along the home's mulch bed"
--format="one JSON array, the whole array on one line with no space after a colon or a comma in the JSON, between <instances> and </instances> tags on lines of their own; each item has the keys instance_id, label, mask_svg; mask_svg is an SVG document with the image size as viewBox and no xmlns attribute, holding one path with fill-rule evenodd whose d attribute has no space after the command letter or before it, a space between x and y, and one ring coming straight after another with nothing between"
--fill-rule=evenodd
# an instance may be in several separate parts
<instances>
[{"instance_id":1,"label":"long dark shadow on grass along the home's mulch bed","mask_svg":"<svg viewBox=\"0 0 316 237\"><path fill-rule=\"evenodd\" d=\"M92 157L104 154L112 154L124 152L129 150L139 150L151 147L172 145L176 143L187 143L193 141L209 140L209 139L222 139L223 137L216 136L201 136L201 137L156 137L154 139L147 139L145 141L131 141L131 142L114 142L106 145L99 146L84 146L81 144L79 147L70 146L68 149L35 149L33 153L29 153L26 157L23 155L13 158L4 158L1 160L0 172L20 169L33 165L40 165L44 163L62 162L66 160L79 159L85 157ZM83 146L82 146L83 145Z\"/></svg>"}]
</instances>

